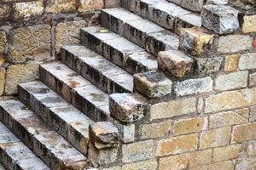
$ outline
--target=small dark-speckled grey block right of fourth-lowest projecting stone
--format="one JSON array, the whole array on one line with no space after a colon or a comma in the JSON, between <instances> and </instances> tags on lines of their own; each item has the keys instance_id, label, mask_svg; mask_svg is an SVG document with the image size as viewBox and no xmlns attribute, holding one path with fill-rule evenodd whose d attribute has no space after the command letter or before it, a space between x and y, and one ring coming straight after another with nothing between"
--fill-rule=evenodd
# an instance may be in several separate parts
<instances>
[{"instance_id":1,"label":"small dark-speckled grey block right of fourth-lowest projecting stone","mask_svg":"<svg viewBox=\"0 0 256 170\"><path fill-rule=\"evenodd\" d=\"M223 58L212 57L212 58L196 58L195 71L199 74L207 75L213 72L217 72L220 69Z\"/></svg>"}]
</instances>

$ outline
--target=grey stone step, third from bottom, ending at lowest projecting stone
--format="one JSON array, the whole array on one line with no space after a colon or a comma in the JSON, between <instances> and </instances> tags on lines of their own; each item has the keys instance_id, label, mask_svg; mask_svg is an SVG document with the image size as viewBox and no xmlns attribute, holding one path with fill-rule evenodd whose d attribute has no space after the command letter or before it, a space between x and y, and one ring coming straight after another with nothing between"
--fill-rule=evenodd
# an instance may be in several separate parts
<instances>
[{"instance_id":1,"label":"grey stone step, third from bottom, ending at lowest projecting stone","mask_svg":"<svg viewBox=\"0 0 256 170\"><path fill-rule=\"evenodd\" d=\"M21 83L19 99L73 146L87 154L89 125L93 121L42 82Z\"/></svg>"}]
</instances>

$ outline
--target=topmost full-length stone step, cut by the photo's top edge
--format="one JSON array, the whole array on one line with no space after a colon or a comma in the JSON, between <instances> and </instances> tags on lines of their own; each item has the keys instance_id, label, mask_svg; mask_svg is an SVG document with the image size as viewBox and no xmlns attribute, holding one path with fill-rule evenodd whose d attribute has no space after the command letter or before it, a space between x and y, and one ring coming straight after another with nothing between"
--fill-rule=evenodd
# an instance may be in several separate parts
<instances>
[{"instance_id":1,"label":"topmost full-length stone step, cut by the photo's top edge","mask_svg":"<svg viewBox=\"0 0 256 170\"><path fill-rule=\"evenodd\" d=\"M179 0L172 1L179 2ZM182 6L181 3L179 5ZM201 27L199 14L166 0L121 0L121 6L159 26L174 30L176 33L181 27Z\"/></svg>"}]
</instances>

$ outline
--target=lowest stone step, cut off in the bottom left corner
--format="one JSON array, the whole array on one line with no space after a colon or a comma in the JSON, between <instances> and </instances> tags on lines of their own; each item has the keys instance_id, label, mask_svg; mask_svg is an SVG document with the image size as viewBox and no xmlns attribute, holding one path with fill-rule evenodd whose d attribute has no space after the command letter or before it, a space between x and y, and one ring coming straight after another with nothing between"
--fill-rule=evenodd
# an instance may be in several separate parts
<instances>
[{"instance_id":1,"label":"lowest stone step, cut off in the bottom left corner","mask_svg":"<svg viewBox=\"0 0 256 170\"><path fill-rule=\"evenodd\" d=\"M49 170L44 161L35 156L32 150L9 131L2 122L0 122L0 161L3 163L3 165L0 164L0 170L5 170L4 167L12 170Z\"/></svg>"}]
</instances>

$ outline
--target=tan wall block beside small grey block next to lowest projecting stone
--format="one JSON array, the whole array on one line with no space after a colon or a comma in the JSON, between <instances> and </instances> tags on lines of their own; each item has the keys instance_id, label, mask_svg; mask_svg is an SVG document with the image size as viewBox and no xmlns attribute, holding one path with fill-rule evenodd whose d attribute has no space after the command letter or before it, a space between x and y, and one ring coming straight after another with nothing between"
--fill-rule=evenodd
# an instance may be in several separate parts
<instances>
[{"instance_id":1,"label":"tan wall block beside small grey block next to lowest projecting stone","mask_svg":"<svg viewBox=\"0 0 256 170\"><path fill-rule=\"evenodd\" d=\"M171 133L172 122L158 122L142 124L139 127L141 139L156 139L168 136Z\"/></svg>"}]
</instances>

